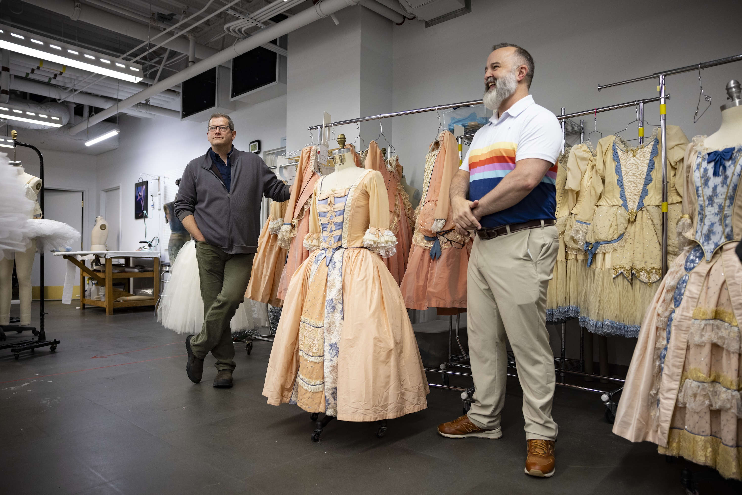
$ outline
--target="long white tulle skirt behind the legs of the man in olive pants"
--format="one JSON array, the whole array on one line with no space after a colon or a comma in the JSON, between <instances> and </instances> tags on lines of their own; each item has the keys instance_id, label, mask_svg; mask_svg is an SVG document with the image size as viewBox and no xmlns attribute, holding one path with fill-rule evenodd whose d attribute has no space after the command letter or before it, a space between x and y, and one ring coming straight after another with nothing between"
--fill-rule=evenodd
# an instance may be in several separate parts
<instances>
[{"instance_id":1,"label":"long white tulle skirt behind the legs of the man in olive pants","mask_svg":"<svg viewBox=\"0 0 742 495\"><path fill-rule=\"evenodd\" d=\"M160 296L157 321L162 327L177 333L197 334L203 325L203 300L201 299L196 243L189 240L183 244L171 267L170 281ZM257 330L266 327L268 317L265 304L245 299L229 326L232 333L242 330Z\"/></svg>"}]
</instances>

